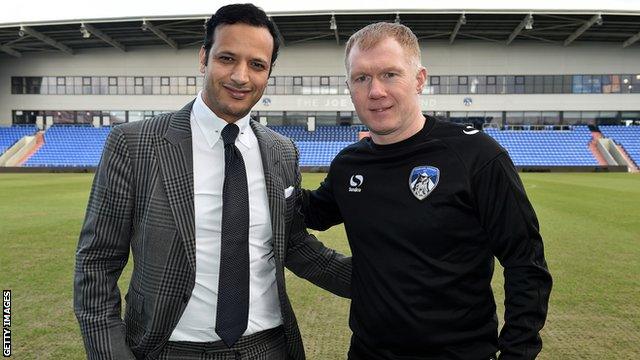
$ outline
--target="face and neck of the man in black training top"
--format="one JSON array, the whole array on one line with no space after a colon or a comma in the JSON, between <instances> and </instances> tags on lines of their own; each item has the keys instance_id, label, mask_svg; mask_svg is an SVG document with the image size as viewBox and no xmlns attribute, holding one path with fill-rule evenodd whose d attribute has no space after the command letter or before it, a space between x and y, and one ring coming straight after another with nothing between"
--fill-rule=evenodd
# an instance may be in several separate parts
<instances>
[{"instance_id":1,"label":"face and neck of the man in black training top","mask_svg":"<svg viewBox=\"0 0 640 360\"><path fill-rule=\"evenodd\" d=\"M352 48L347 64L351 101L374 142L394 143L420 131L418 94L427 73L395 39L386 38L369 50Z\"/></svg>"}]
</instances>

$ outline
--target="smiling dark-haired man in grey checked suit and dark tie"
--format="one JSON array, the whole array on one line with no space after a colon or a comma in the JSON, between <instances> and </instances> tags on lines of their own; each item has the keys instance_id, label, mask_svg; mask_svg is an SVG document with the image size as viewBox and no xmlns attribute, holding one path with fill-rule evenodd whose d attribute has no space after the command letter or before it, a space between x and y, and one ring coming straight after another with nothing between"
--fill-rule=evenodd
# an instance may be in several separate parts
<instances>
[{"instance_id":1,"label":"smiling dark-haired man in grey checked suit and dark tie","mask_svg":"<svg viewBox=\"0 0 640 360\"><path fill-rule=\"evenodd\" d=\"M284 266L349 296L351 259L304 230L293 142L249 119L278 46L261 9L220 8L196 99L111 131L76 258L90 359L304 359Z\"/></svg>"}]
</instances>

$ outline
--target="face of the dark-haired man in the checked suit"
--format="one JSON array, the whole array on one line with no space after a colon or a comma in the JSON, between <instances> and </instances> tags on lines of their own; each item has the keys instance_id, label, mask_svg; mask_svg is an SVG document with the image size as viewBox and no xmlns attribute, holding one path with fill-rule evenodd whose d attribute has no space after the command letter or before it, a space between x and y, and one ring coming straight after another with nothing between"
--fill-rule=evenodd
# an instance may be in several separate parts
<instances>
[{"instance_id":1,"label":"face of the dark-haired man in the checked suit","mask_svg":"<svg viewBox=\"0 0 640 360\"><path fill-rule=\"evenodd\" d=\"M267 28L242 23L216 27L208 61L200 49L205 104L227 122L247 115L267 87L272 50Z\"/></svg>"}]
</instances>

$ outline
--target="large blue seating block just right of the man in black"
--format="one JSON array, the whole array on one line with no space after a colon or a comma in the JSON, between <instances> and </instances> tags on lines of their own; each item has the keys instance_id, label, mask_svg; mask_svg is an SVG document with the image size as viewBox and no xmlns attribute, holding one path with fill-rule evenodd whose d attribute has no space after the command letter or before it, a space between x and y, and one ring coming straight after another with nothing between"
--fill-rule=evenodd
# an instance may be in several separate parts
<instances>
[{"instance_id":1,"label":"large blue seating block just right of the man in black","mask_svg":"<svg viewBox=\"0 0 640 360\"><path fill-rule=\"evenodd\" d=\"M485 129L509 152L516 166L597 166L589 150L591 131L586 126L571 130Z\"/></svg>"}]
</instances>

